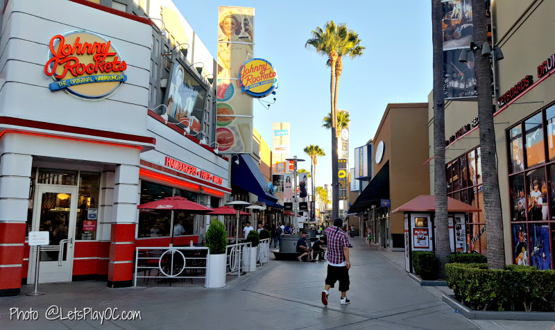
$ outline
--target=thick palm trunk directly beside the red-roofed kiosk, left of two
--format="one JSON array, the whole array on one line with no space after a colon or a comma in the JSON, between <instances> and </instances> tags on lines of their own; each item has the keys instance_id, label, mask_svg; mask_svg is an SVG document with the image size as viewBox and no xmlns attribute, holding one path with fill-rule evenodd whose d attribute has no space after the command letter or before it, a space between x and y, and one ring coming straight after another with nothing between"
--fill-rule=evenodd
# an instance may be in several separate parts
<instances>
[{"instance_id":1,"label":"thick palm trunk directly beside the red-roofed kiosk, left of two","mask_svg":"<svg viewBox=\"0 0 555 330\"><path fill-rule=\"evenodd\" d=\"M445 263L451 253L447 220L445 177L445 99L443 96L443 28L441 0L432 0L432 43L434 47L434 193L436 195L436 257L439 277L445 278Z\"/></svg>"}]
</instances>

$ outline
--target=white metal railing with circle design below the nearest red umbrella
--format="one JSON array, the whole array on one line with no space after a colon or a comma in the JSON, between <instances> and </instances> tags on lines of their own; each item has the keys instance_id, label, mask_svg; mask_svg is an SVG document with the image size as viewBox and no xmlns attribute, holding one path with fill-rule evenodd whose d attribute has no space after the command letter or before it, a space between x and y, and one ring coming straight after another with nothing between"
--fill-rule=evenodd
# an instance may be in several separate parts
<instances>
[{"instance_id":1,"label":"white metal railing with circle design below the nearest red umbrella","mask_svg":"<svg viewBox=\"0 0 555 330\"><path fill-rule=\"evenodd\" d=\"M206 253L204 253L204 251ZM206 247L149 247L136 248L135 277L133 286L137 286L137 279L206 279L208 277L207 264L210 251ZM152 274L154 270L154 274ZM196 276L187 276L190 270ZM199 275L200 270L200 275ZM148 271L148 276L146 272ZM139 276L139 272L144 272Z\"/></svg>"}]
</instances>

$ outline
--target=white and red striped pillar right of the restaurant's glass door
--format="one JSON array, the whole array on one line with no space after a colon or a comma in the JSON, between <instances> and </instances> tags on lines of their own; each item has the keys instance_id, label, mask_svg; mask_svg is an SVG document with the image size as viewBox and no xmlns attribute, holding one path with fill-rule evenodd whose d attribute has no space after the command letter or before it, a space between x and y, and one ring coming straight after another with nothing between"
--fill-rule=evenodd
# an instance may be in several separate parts
<instances>
[{"instance_id":1,"label":"white and red striped pillar right of the restaurant's glass door","mask_svg":"<svg viewBox=\"0 0 555 330\"><path fill-rule=\"evenodd\" d=\"M139 166L118 165L114 178L108 287L133 285Z\"/></svg>"}]
</instances>

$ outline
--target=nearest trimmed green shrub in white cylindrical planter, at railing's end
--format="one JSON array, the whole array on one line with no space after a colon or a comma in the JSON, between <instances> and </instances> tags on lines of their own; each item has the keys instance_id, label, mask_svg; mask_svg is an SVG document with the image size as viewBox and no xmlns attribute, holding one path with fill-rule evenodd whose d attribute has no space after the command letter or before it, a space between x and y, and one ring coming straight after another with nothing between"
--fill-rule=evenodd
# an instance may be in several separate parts
<instances>
[{"instance_id":1,"label":"nearest trimmed green shrub in white cylindrical planter, at railing's end","mask_svg":"<svg viewBox=\"0 0 555 330\"><path fill-rule=\"evenodd\" d=\"M206 246L210 251L207 263L207 288L223 288L225 286L227 237L225 225L216 218L212 219L206 232Z\"/></svg>"}]
</instances>

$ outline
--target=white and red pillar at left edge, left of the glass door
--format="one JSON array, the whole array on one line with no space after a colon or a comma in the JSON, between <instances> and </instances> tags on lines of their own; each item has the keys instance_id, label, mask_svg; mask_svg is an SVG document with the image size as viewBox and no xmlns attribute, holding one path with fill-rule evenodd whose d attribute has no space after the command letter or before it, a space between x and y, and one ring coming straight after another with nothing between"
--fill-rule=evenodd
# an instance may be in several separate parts
<instances>
[{"instance_id":1,"label":"white and red pillar at left edge, left of the glass door","mask_svg":"<svg viewBox=\"0 0 555 330\"><path fill-rule=\"evenodd\" d=\"M0 156L0 297L22 288L32 164L31 155Z\"/></svg>"}]
</instances>

